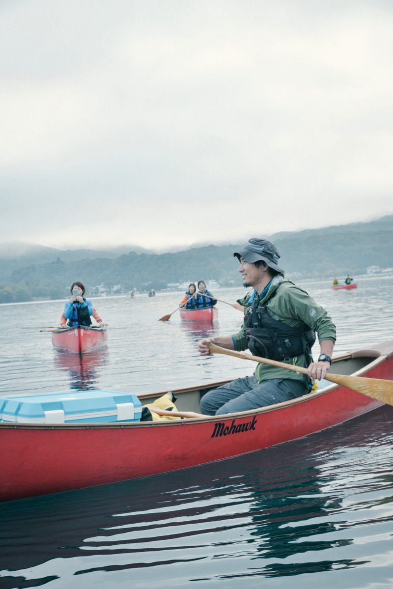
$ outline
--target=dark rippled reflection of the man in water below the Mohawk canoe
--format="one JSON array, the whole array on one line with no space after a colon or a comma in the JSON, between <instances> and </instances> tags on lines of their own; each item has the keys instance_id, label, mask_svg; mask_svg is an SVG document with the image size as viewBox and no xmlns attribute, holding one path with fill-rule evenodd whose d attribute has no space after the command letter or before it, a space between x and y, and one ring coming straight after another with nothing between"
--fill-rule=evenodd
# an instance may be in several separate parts
<instances>
[{"instance_id":1,"label":"dark rippled reflection of the man in water below the Mohawk canoe","mask_svg":"<svg viewBox=\"0 0 393 589\"><path fill-rule=\"evenodd\" d=\"M264 475L269 469L271 475L280 472L280 452L273 451L272 456L276 460L270 465L267 461ZM334 558L329 552L353 542L351 537L342 538L335 522L326 517L342 507L341 498L321 492L321 472L309 456L292 455L289 460L286 454L282 466L285 477L272 476L267 483L256 475L255 484L250 482L254 491L250 515L255 525L250 535L257 542L256 558L260 559L255 574L286 577L350 566L353 561Z\"/></svg>"}]
</instances>

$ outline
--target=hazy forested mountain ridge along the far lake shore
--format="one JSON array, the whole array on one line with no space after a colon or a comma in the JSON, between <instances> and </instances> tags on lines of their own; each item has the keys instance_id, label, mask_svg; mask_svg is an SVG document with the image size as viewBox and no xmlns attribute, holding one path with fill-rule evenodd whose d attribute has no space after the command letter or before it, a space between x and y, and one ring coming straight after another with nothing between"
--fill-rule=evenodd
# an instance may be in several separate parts
<instances>
[{"instance_id":1,"label":"hazy forested mountain ridge along the far lake shore","mask_svg":"<svg viewBox=\"0 0 393 589\"><path fill-rule=\"evenodd\" d=\"M393 215L368 223L276 233L269 237L281 254L280 266L294 279L364 274L369 266L393 266ZM64 298L70 284L81 280L88 293L98 285L107 292L165 289L185 280L217 280L240 284L233 252L244 245L192 247L176 253L136 253L117 256L94 250L54 250L51 262L42 252L0 259L0 302L35 297ZM88 255L86 253L88 252ZM48 252L45 252L47 255ZM80 257L79 257L80 256ZM38 261L39 260L39 261Z\"/></svg>"}]
</instances>

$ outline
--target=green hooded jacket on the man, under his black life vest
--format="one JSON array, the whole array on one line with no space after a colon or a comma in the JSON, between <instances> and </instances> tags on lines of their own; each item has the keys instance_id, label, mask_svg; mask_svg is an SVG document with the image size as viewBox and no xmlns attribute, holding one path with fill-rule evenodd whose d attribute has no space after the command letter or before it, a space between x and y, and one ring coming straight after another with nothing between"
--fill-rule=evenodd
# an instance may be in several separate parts
<instances>
[{"instance_id":1,"label":"green hooded jacket on the man, under his black life vest","mask_svg":"<svg viewBox=\"0 0 393 589\"><path fill-rule=\"evenodd\" d=\"M244 299L239 300L240 305L249 307L251 297L252 294L247 294ZM272 319L282 321L291 327L298 327L305 323L315 329L319 342L325 339L336 341L336 327L326 310L318 305L305 290L300 289L283 276L273 277L269 290L260 300L259 305L265 303L267 314ZM247 349L246 328L244 325L239 332L232 335L232 339L235 343L235 350L240 352ZM311 353L307 351L291 359L293 365L303 366L303 368L307 368L312 361ZM311 382L306 375L292 372L292 370L285 370L285 368L267 366L266 364L257 365L255 376L258 382L271 378L290 378Z\"/></svg>"}]
</instances>

